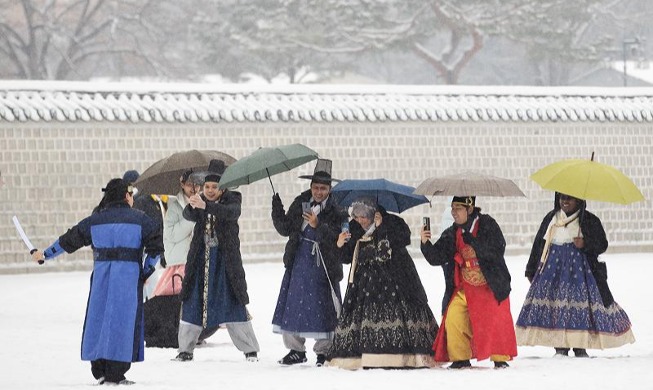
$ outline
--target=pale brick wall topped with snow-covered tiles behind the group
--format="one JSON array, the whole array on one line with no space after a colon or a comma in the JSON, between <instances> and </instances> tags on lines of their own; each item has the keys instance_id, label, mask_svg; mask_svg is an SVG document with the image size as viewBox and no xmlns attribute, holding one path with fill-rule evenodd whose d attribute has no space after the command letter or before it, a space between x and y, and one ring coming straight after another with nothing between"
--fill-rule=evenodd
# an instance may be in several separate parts
<instances>
[{"instance_id":1,"label":"pale brick wall topped with snow-covered tiles behind the group","mask_svg":"<svg viewBox=\"0 0 653 390\"><path fill-rule=\"evenodd\" d=\"M260 146L303 143L333 160L336 178L384 177L417 186L465 170L514 180L526 198L479 198L501 225L509 253L527 253L553 195L529 175L566 158L618 167L653 196L653 90L540 88L360 88L301 86L115 86L0 82L0 272L33 272L11 217L38 247L88 215L100 188L127 169L144 171L176 151L216 149L241 158ZM361 87L362 88L362 87ZM308 187L272 177L285 205ZM272 226L270 183L243 193L246 261L281 261L285 240ZM421 258L422 216L439 221L449 199L402 214ZM653 249L652 202L589 202L613 251ZM432 222L434 230L439 223ZM47 269L90 266L87 250ZM420 261L420 260L418 260Z\"/></svg>"}]
</instances>

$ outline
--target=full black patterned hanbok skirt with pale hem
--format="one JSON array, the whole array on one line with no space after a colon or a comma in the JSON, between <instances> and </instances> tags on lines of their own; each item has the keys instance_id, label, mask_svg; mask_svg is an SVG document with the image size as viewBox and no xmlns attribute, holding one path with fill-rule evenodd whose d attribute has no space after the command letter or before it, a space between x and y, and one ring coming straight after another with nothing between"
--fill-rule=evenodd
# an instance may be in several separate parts
<instances>
[{"instance_id":1,"label":"full black patterned hanbok skirt with pale hem","mask_svg":"<svg viewBox=\"0 0 653 390\"><path fill-rule=\"evenodd\" d=\"M405 289L410 284L395 280L383 262L359 263L345 294L328 365L433 367L437 322L428 304L409 299Z\"/></svg>"}]
</instances>

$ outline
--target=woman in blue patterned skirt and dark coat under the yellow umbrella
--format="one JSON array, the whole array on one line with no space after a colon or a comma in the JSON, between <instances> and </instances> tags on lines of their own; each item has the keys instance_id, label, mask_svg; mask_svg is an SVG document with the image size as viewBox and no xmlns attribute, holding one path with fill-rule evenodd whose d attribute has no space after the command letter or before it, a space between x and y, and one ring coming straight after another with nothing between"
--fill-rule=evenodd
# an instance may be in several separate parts
<instances>
[{"instance_id":1,"label":"woman in blue patterned skirt and dark coat under the yellow umbrella","mask_svg":"<svg viewBox=\"0 0 653 390\"><path fill-rule=\"evenodd\" d=\"M517 318L519 345L555 348L555 356L588 357L587 349L633 343L630 320L614 301L605 263L601 220L584 200L555 193L526 265L531 286Z\"/></svg>"}]
</instances>

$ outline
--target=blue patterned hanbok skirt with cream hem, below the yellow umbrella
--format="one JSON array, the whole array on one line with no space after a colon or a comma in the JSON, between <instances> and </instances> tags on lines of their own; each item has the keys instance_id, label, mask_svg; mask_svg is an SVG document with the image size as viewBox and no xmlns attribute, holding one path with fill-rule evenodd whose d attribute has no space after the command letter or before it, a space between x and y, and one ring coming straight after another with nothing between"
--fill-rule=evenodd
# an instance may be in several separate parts
<instances>
[{"instance_id":1,"label":"blue patterned hanbok skirt with cream hem, below the yellow umbrella","mask_svg":"<svg viewBox=\"0 0 653 390\"><path fill-rule=\"evenodd\" d=\"M573 243L551 245L516 323L518 345L615 348L635 341L626 312L603 304L585 254Z\"/></svg>"}]
</instances>

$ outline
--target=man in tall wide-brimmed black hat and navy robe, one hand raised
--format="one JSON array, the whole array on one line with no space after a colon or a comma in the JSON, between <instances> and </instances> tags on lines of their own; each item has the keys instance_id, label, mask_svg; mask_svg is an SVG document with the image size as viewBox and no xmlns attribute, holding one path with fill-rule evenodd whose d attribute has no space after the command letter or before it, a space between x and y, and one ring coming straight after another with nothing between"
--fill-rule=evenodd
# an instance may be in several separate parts
<instances>
[{"instance_id":1,"label":"man in tall wide-brimmed black hat and navy robe, one hand raised","mask_svg":"<svg viewBox=\"0 0 653 390\"><path fill-rule=\"evenodd\" d=\"M283 255L286 271L272 319L273 331L281 333L290 350L279 364L304 363L305 342L315 339L316 365L322 366L338 323L342 264L336 241L347 214L330 196L331 160L318 159L310 189L302 192L284 211L279 194L272 196L272 222L288 237Z\"/></svg>"}]
</instances>

